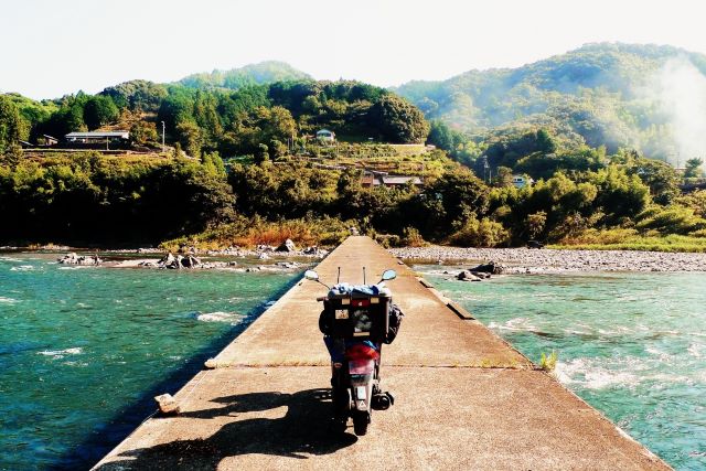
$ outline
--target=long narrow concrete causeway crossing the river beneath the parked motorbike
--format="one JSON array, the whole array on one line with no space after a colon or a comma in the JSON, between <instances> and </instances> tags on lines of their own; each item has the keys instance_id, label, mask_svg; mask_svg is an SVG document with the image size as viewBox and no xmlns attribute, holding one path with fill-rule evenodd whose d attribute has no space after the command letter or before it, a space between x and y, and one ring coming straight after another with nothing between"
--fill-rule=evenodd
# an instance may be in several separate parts
<instances>
[{"instance_id":1,"label":"long narrow concrete causeway crossing the river beneath the parked motorbike","mask_svg":"<svg viewBox=\"0 0 706 471\"><path fill-rule=\"evenodd\" d=\"M397 270L388 286L405 312L383 347L395 405L365 437L327 427L325 288L303 280L181 388L178 416L150 418L94 469L670 469L368 237L350 237L317 271L331 285L341 267L360 283L363 266L368 281Z\"/></svg>"}]
</instances>

